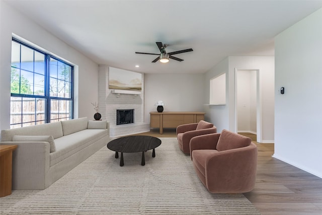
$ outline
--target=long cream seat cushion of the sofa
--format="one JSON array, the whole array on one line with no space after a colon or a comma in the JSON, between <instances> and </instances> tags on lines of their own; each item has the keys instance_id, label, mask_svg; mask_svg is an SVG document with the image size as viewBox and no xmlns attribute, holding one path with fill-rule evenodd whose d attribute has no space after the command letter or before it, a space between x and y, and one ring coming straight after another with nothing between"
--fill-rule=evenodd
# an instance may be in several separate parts
<instances>
[{"instance_id":1,"label":"long cream seat cushion of the sofa","mask_svg":"<svg viewBox=\"0 0 322 215\"><path fill-rule=\"evenodd\" d=\"M108 136L107 129L85 129L55 139L56 152L50 153L50 166L85 149L105 136Z\"/></svg>"}]
</instances>

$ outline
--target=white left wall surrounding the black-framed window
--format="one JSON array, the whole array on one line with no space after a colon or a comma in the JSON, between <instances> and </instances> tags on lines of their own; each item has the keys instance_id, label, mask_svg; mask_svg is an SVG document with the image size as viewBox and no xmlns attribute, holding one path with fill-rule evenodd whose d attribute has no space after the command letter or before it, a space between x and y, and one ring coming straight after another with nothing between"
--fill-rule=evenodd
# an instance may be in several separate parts
<instances>
[{"instance_id":1,"label":"white left wall surrounding the black-framed window","mask_svg":"<svg viewBox=\"0 0 322 215\"><path fill-rule=\"evenodd\" d=\"M75 64L76 117L93 118L90 102L98 100L98 64L44 30L20 12L0 1L0 130L10 127L11 40L16 34ZM78 70L78 71L77 71ZM79 96L78 95L82 95ZM77 102L78 99L78 102Z\"/></svg>"}]
</instances>

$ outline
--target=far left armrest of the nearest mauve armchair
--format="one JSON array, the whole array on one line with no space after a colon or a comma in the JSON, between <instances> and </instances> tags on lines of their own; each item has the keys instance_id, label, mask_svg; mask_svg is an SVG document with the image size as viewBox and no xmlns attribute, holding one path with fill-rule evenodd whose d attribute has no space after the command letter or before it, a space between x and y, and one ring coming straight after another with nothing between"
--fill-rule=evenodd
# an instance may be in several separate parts
<instances>
[{"instance_id":1,"label":"far left armrest of the nearest mauve armchair","mask_svg":"<svg viewBox=\"0 0 322 215\"><path fill-rule=\"evenodd\" d=\"M209 133L194 136L190 139L190 156L192 160L192 151L194 150L215 150L220 133Z\"/></svg>"}]
</instances>

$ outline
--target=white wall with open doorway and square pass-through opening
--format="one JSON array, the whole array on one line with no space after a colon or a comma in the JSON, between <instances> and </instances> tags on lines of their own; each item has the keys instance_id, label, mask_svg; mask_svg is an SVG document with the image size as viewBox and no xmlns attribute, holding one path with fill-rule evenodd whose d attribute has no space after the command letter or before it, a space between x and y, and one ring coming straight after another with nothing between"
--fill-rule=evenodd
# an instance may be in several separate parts
<instances>
[{"instance_id":1,"label":"white wall with open doorway and square pass-through opening","mask_svg":"<svg viewBox=\"0 0 322 215\"><path fill-rule=\"evenodd\" d=\"M235 128L235 70L259 70L259 93L261 95L262 142L274 142L274 56L230 56L205 74L205 103L209 104L209 80L226 73L226 105L205 106L218 132ZM207 96L208 94L208 96ZM257 131L258 132L258 131Z\"/></svg>"}]
</instances>

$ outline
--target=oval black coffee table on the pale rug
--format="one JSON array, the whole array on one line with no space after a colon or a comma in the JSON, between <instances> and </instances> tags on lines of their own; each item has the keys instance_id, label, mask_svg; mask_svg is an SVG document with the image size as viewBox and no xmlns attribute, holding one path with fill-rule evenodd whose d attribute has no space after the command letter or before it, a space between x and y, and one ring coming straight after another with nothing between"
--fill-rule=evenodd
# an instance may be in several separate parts
<instances>
[{"instance_id":1,"label":"oval black coffee table on the pale rug","mask_svg":"<svg viewBox=\"0 0 322 215\"><path fill-rule=\"evenodd\" d=\"M161 140L153 136L124 136L113 139L107 144L107 148L115 152L115 158L121 153L120 166L124 166L123 153L142 152L141 165L145 165L144 152L152 151L152 157L155 157L155 148L161 145Z\"/></svg>"}]
</instances>

